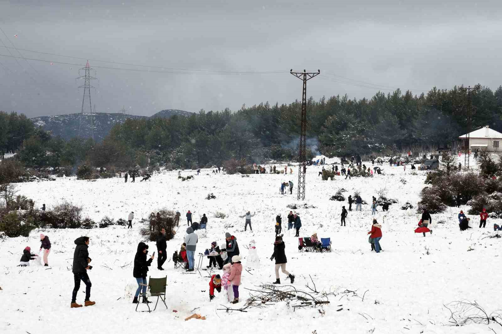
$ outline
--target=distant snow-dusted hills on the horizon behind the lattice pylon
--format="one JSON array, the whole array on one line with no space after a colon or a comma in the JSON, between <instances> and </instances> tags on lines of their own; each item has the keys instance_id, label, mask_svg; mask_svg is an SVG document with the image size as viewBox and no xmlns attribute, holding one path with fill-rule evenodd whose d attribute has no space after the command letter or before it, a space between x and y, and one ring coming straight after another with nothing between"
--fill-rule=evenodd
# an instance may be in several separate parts
<instances>
[{"instance_id":1,"label":"distant snow-dusted hills on the horizon behind the lattice pylon","mask_svg":"<svg viewBox=\"0 0 502 334\"><path fill-rule=\"evenodd\" d=\"M173 115L189 116L191 112L166 109L161 110L151 117L169 118ZM132 119L148 119L148 116L124 115L121 113L93 112L92 122L94 124L94 139L101 141L110 133L113 125L122 123L128 118ZM42 126L44 130L51 131L54 136L61 136L64 139L70 139L78 136L78 128L80 125L80 113L54 116L40 116L31 119L36 126ZM82 118L82 137L88 138L92 136L91 132L91 114L85 113Z\"/></svg>"}]
</instances>

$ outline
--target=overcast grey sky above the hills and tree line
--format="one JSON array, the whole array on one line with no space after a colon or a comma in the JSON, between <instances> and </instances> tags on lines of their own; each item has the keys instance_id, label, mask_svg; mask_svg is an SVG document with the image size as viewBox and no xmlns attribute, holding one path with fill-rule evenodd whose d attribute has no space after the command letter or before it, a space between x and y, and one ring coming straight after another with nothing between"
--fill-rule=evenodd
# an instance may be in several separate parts
<instances>
[{"instance_id":1,"label":"overcast grey sky above the hills and tree line","mask_svg":"<svg viewBox=\"0 0 502 334\"><path fill-rule=\"evenodd\" d=\"M500 18L502 2L494 0L3 0L0 28L7 37L0 32L0 55L21 57L2 47L12 47L10 40L18 49L119 63L286 71L147 73L89 61L99 79L91 91L97 111L117 112L122 105L146 116L162 109L237 110L300 99L301 81L287 73L291 68L321 70L307 87L315 99L371 97L394 87L416 94L460 84L496 89L502 84ZM0 56L0 110L29 117L80 112L82 82L75 78L85 59L21 54L53 64Z\"/></svg>"}]
</instances>

